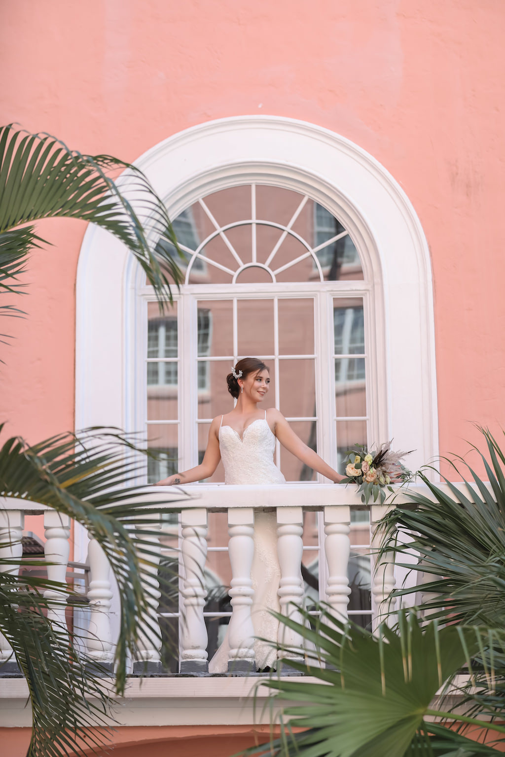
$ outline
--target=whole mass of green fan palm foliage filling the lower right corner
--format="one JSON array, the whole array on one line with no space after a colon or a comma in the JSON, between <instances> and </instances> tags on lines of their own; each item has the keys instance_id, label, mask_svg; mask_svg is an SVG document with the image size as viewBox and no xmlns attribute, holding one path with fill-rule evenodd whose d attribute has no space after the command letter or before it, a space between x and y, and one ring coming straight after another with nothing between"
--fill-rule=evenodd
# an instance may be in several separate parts
<instances>
[{"instance_id":1,"label":"whole mass of green fan palm foliage filling the lower right corner","mask_svg":"<svg viewBox=\"0 0 505 757\"><path fill-rule=\"evenodd\" d=\"M294 666L319 682L268 681L281 707L281 737L244 754L503 754L505 454L488 430L481 431L487 454L476 451L488 481L458 458L454 471L459 478L466 466L471 481L463 477L463 484L454 485L444 478L447 486L441 487L420 474L429 494L407 490L412 503L397 506L379 524L386 536L378 562L392 552L398 565L432 578L422 586L429 592L420 608L422 620L414 612L397 612L390 618L394 628L382 625L373 636L341 625L324 609L312 630L279 616L318 648L317 660L306 668ZM402 562L413 551L419 563ZM417 590L401 587L395 594ZM298 733L295 727L307 730ZM485 743L475 741L477 733Z\"/></svg>"}]
</instances>

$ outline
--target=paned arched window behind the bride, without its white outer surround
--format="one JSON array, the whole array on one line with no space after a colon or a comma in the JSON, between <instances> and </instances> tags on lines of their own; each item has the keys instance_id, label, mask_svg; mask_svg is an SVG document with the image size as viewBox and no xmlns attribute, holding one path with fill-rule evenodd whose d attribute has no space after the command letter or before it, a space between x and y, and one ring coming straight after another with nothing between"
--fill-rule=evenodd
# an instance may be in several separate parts
<instances>
[{"instance_id":1,"label":"paned arched window behind the bride, without its white outer surround","mask_svg":"<svg viewBox=\"0 0 505 757\"><path fill-rule=\"evenodd\" d=\"M278 407L341 468L348 447L378 425L366 402L370 286L348 230L310 195L256 182L199 197L173 224L185 284L164 316L150 288L140 295L147 341L136 363L147 401L137 428L158 457L149 483L201 461L210 421L232 407L226 374L248 355L270 367L261 407ZM192 378L178 391L182 375ZM316 480L279 446L276 462L288 481ZM221 466L211 480L223 481Z\"/></svg>"}]
</instances>

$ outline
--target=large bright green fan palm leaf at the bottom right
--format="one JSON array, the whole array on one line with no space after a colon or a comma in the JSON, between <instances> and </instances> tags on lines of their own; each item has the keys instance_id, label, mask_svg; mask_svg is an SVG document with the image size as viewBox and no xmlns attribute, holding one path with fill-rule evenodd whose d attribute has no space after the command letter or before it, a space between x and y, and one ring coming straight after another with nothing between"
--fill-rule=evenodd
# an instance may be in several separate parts
<instances>
[{"instance_id":1,"label":"large bright green fan palm leaf at the bottom right","mask_svg":"<svg viewBox=\"0 0 505 757\"><path fill-rule=\"evenodd\" d=\"M307 620L310 617L302 614ZM432 730L432 724L425 720L428 716L490 726L505 734L503 727L432 709L441 686L463 665L469 665L469 655L479 648L478 628L439 628L432 623L423 629L414 615L400 614L397 633L382 625L374 637L363 628L335 621L324 610L313 630L280 615L279 620L304 639L319 642L317 654L307 666L292 665L320 683L273 677L266 684L262 682L275 692L274 702L279 700L282 707L282 737L268 747L249 749L245 755L429 755L436 753L430 751L432 735L422 734L434 734L436 730L438 740L441 733L444 744L450 745L453 732L446 729L439 733L438 727ZM327 667L321 668L320 661ZM295 726L307 730L292 734ZM453 751L463 744L469 746L472 742L455 734ZM487 746L474 753L500 752Z\"/></svg>"}]
</instances>

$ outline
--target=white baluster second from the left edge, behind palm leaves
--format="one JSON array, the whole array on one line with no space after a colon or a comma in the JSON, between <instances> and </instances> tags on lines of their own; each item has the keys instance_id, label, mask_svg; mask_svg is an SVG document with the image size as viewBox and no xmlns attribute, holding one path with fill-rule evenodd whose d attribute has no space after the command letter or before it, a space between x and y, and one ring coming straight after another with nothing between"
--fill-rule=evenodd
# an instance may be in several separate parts
<instances>
[{"instance_id":1,"label":"white baluster second from the left edge, behind palm leaves","mask_svg":"<svg viewBox=\"0 0 505 757\"><path fill-rule=\"evenodd\" d=\"M44 556L45 560L51 563L47 566L48 579L64 584L70 556L70 518L61 512L56 512L56 510L46 510L44 512L44 531ZM52 588L46 589L44 592L44 597L49 600L48 619L55 626L55 630L68 637L67 620L65 618L67 596L66 591ZM51 602L51 600L53 601Z\"/></svg>"}]
</instances>

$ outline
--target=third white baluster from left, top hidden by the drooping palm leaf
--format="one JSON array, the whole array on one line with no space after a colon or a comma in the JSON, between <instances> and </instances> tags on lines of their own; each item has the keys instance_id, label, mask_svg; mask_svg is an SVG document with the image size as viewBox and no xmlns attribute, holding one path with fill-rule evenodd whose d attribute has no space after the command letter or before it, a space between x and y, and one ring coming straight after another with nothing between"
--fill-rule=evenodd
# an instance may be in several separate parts
<instances>
[{"instance_id":1,"label":"third white baluster from left, top hidden by the drooping palm leaf","mask_svg":"<svg viewBox=\"0 0 505 757\"><path fill-rule=\"evenodd\" d=\"M111 565L96 539L88 544L89 562L89 628L86 634L88 656L112 670L114 647L111 634Z\"/></svg>"}]
</instances>

